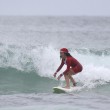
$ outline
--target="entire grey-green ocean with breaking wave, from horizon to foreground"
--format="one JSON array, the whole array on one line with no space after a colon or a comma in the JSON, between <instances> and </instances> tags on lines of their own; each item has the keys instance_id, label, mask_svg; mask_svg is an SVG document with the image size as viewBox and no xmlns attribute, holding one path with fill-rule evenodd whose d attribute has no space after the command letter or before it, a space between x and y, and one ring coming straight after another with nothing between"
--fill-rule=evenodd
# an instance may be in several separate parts
<instances>
[{"instance_id":1,"label":"entire grey-green ocean with breaking wave, from horizon to foreground","mask_svg":"<svg viewBox=\"0 0 110 110\"><path fill-rule=\"evenodd\" d=\"M81 89L56 94L63 47L83 65ZM0 16L0 110L105 110L109 84L110 17Z\"/></svg>"}]
</instances>

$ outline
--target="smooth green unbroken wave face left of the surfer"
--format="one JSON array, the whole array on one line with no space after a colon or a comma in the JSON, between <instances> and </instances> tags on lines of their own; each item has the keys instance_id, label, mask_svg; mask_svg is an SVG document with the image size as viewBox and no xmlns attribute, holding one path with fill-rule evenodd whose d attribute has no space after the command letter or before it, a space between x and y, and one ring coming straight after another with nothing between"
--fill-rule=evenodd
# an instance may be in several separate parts
<instances>
[{"instance_id":1,"label":"smooth green unbroken wave face left of the surfer","mask_svg":"<svg viewBox=\"0 0 110 110\"><path fill-rule=\"evenodd\" d=\"M0 94L51 92L58 82L41 77L34 71L25 72L14 68L0 68Z\"/></svg>"}]
</instances>

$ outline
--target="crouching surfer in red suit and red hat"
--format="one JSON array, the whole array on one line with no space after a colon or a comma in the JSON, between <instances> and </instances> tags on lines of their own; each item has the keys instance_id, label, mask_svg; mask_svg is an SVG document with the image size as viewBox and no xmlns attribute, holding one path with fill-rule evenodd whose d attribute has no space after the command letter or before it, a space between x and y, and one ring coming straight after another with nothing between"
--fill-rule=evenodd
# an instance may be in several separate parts
<instances>
[{"instance_id":1,"label":"crouching surfer in red suit and red hat","mask_svg":"<svg viewBox=\"0 0 110 110\"><path fill-rule=\"evenodd\" d=\"M70 55L68 52L68 49L62 48L60 49L60 58L62 59L60 66L58 67L57 71L54 73L54 77L56 77L57 73L61 70L64 64L67 65L66 70L61 73L57 79L60 80L60 78L64 75L65 81L66 81L66 86L65 88L69 89L70 88L70 82L73 83L73 86L76 86L76 82L73 79L72 75L76 75L77 73L81 72L83 67L82 65L76 60L74 57Z\"/></svg>"}]
</instances>

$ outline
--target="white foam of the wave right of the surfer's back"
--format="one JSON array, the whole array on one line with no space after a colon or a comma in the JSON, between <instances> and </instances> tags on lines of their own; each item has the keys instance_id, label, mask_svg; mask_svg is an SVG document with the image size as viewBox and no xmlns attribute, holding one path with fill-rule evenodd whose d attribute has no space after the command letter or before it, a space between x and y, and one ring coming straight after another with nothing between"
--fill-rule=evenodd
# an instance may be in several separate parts
<instances>
[{"instance_id":1,"label":"white foam of the wave right of the surfer's back","mask_svg":"<svg viewBox=\"0 0 110 110\"><path fill-rule=\"evenodd\" d=\"M110 81L110 58L108 56L79 55L83 71L75 78L89 88ZM105 59L105 60L104 60Z\"/></svg>"}]
</instances>

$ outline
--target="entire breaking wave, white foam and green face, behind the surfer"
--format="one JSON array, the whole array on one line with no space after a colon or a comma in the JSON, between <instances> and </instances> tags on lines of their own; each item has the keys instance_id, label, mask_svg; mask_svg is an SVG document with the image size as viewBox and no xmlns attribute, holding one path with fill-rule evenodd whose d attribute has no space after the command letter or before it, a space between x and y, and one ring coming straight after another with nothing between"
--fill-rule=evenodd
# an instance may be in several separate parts
<instances>
[{"instance_id":1,"label":"entire breaking wave, white foam and green face, behind the surfer","mask_svg":"<svg viewBox=\"0 0 110 110\"><path fill-rule=\"evenodd\" d=\"M109 48L69 50L84 68L73 76L79 84L94 88L110 82ZM58 81L53 80L53 73L60 62L59 49L51 45L21 47L0 44L0 87L3 91L49 91L58 85ZM64 69L65 66L61 72Z\"/></svg>"}]
</instances>

